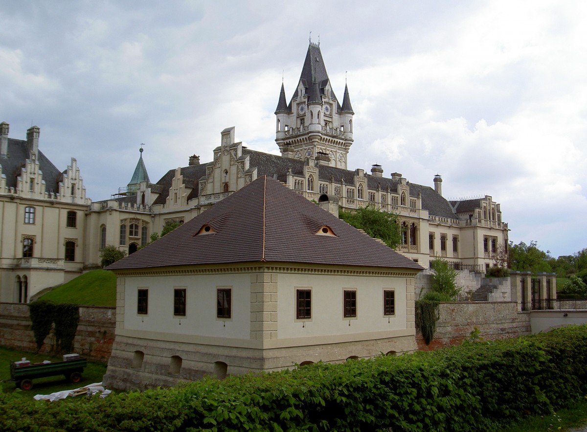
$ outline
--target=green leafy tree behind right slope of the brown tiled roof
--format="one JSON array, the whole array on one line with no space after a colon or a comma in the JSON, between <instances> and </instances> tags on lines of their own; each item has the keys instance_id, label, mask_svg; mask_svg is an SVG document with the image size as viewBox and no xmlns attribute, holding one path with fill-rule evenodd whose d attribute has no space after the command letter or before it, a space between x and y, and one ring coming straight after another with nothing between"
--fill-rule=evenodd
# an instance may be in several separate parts
<instances>
[{"instance_id":1,"label":"green leafy tree behind right slope of the brown tiled roof","mask_svg":"<svg viewBox=\"0 0 587 432\"><path fill-rule=\"evenodd\" d=\"M383 240L392 249L402 241L397 215L380 211L373 205L357 208L353 212L341 209L339 210L339 217L349 225L365 231L370 237Z\"/></svg>"}]
</instances>

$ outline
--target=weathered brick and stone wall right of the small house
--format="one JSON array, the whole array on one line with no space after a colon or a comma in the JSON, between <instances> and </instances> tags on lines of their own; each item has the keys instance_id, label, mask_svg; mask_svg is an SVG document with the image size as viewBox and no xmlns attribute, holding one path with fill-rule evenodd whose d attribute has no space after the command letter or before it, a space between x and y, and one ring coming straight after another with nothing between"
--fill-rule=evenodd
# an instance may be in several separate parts
<instances>
[{"instance_id":1,"label":"weathered brick and stone wall right of the small house","mask_svg":"<svg viewBox=\"0 0 587 432\"><path fill-rule=\"evenodd\" d=\"M487 340L517 338L531 333L530 314L518 312L511 302L454 302L440 303L440 319L430 345L424 343L420 331L416 333L418 349L430 351L444 346L460 345L470 336L474 327Z\"/></svg>"}]
</instances>

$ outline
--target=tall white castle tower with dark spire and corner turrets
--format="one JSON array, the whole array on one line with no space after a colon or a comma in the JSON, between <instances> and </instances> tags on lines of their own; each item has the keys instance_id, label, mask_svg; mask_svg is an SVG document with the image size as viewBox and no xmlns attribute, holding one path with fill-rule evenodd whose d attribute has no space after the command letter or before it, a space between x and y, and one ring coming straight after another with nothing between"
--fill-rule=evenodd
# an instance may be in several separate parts
<instances>
[{"instance_id":1,"label":"tall white castle tower with dark spire and corner turrets","mask_svg":"<svg viewBox=\"0 0 587 432\"><path fill-rule=\"evenodd\" d=\"M346 168L353 143L353 112L348 87L342 105L330 85L320 46L310 42L298 87L289 103L282 83L275 109L275 142L284 157L328 156L328 165Z\"/></svg>"}]
</instances>

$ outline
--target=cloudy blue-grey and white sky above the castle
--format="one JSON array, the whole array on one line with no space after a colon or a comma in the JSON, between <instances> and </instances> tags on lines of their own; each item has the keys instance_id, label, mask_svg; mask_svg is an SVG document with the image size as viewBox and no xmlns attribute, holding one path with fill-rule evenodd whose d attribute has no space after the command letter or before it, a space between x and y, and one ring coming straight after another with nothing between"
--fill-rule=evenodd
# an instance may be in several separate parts
<instances>
[{"instance_id":1,"label":"cloudy blue-grey and white sky above the castle","mask_svg":"<svg viewBox=\"0 0 587 432\"><path fill-rule=\"evenodd\" d=\"M282 77L320 41L355 110L349 168L491 195L515 243L587 247L587 2L0 1L0 122L87 196L212 159L220 131L278 153Z\"/></svg>"}]
</instances>

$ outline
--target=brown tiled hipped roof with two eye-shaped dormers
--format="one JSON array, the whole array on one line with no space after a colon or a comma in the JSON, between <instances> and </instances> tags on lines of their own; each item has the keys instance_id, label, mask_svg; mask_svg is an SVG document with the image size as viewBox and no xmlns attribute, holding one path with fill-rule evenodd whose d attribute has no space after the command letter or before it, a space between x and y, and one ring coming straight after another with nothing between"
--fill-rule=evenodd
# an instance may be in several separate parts
<instances>
[{"instance_id":1,"label":"brown tiled hipped roof with two eye-shaped dormers","mask_svg":"<svg viewBox=\"0 0 587 432\"><path fill-rule=\"evenodd\" d=\"M322 234L325 225L333 234ZM411 259L266 176L108 269L234 262L421 270Z\"/></svg>"}]
</instances>

